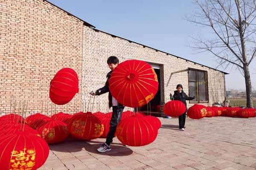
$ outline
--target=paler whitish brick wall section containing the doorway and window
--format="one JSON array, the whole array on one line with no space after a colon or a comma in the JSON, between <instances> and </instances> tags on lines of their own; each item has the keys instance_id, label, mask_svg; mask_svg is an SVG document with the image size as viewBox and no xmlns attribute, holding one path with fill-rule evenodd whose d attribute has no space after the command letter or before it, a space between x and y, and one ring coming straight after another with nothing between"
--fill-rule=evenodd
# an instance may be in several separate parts
<instances>
[{"instance_id":1,"label":"paler whitish brick wall section containing the doorway and window","mask_svg":"<svg viewBox=\"0 0 256 170\"><path fill-rule=\"evenodd\" d=\"M208 73L209 103L204 103L203 105L211 106L212 102L224 101L225 78L224 74L220 71L167 55L166 53L86 26L84 26L82 71L82 99L84 101L89 100L89 91L95 91L104 85L106 74L110 71L106 61L112 55L118 57L120 62L127 59L141 59L161 65L161 68L163 68L161 77L163 80L163 102L169 101L169 94L174 94L173 91L176 90L177 84L182 84L185 93L189 94L188 68L205 70ZM107 94L96 96L96 102L98 105L103 106L103 111L108 111ZM188 107L192 105L194 104L189 104L188 102Z\"/></svg>"}]
</instances>

